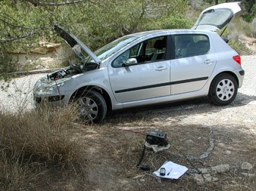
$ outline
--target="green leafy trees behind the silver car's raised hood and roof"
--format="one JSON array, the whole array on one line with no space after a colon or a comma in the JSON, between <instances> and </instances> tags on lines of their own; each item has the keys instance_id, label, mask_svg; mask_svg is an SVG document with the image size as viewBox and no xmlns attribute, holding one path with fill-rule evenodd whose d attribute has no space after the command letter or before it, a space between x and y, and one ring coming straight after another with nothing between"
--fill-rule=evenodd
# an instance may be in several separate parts
<instances>
[{"instance_id":1,"label":"green leafy trees behind the silver car's raised hood and roof","mask_svg":"<svg viewBox=\"0 0 256 191\"><path fill-rule=\"evenodd\" d=\"M59 23L97 49L113 39L146 29L190 26L187 0L3 0L0 2L0 72L10 72L8 53L28 53L39 42L56 42ZM61 5L61 3L64 3ZM170 23L168 23L170 22Z\"/></svg>"}]
</instances>

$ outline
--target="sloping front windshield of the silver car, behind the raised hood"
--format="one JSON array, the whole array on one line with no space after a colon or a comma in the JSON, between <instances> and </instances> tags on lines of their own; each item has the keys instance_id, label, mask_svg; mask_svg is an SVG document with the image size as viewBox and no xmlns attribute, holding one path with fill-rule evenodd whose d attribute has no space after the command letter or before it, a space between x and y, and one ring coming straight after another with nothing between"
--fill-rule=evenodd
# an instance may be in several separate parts
<instances>
[{"instance_id":1,"label":"sloping front windshield of the silver car, behind the raised hood","mask_svg":"<svg viewBox=\"0 0 256 191\"><path fill-rule=\"evenodd\" d=\"M121 48L125 47L126 45L130 44L134 40L138 39L137 36L123 36L120 39L115 40L114 42L109 43L108 45L99 48L94 54L100 59L105 60L106 58L110 57L112 54L119 51Z\"/></svg>"}]
</instances>

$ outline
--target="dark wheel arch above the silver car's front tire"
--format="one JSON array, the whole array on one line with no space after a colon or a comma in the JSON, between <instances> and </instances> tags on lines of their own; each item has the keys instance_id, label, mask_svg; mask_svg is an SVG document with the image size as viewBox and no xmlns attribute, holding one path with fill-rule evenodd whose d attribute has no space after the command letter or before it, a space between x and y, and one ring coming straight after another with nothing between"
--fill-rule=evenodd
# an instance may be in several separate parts
<instances>
[{"instance_id":1,"label":"dark wheel arch above the silver car's front tire","mask_svg":"<svg viewBox=\"0 0 256 191\"><path fill-rule=\"evenodd\" d=\"M98 87L97 85L86 85L86 86L83 86L83 87L77 89L71 95L69 103L72 103L74 98L80 96L81 94L83 94L83 92L91 91L91 90L97 91L99 94L101 94L102 97L104 97L104 99L107 103L107 109L108 109L108 111L111 111L112 110L111 97L109 96L108 92L105 91L104 88Z\"/></svg>"}]
</instances>

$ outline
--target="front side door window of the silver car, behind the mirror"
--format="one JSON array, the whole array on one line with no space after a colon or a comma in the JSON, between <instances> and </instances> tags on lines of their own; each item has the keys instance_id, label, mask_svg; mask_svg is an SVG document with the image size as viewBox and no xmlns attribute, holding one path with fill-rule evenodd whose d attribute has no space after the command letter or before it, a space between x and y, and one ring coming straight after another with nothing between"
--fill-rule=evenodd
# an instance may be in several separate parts
<instances>
[{"instance_id":1,"label":"front side door window of the silver car, behind the mirror","mask_svg":"<svg viewBox=\"0 0 256 191\"><path fill-rule=\"evenodd\" d=\"M133 46L120 54L112 63L114 68L123 66L123 63L130 58L136 58L137 63L151 63L165 60L167 48L167 36L148 39Z\"/></svg>"}]
</instances>

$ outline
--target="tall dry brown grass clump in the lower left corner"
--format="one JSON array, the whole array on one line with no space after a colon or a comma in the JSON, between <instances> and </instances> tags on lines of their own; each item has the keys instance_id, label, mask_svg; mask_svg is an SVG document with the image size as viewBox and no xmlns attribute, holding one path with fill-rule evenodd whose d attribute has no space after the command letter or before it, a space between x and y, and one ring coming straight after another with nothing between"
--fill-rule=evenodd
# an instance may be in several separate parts
<instances>
[{"instance_id":1,"label":"tall dry brown grass clump in the lower left corner","mask_svg":"<svg viewBox=\"0 0 256 191\"><path fill-rule=\"evenodd\" d=\"M33 189L45 171L79 164L81 146L70 137L76 109L0 113L0 189Z\"/></svg>"}]
</instances>

